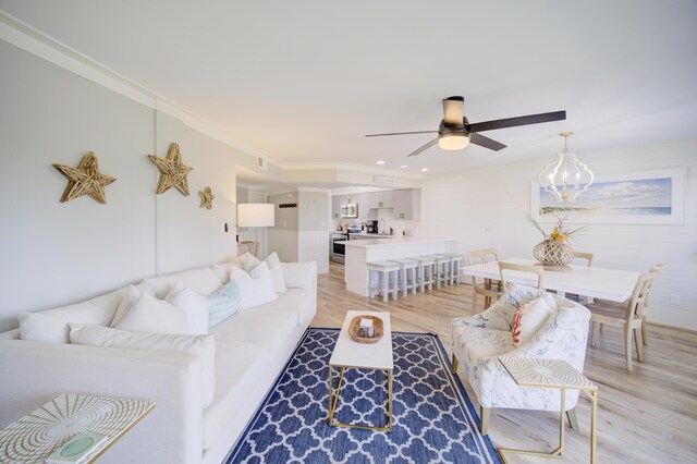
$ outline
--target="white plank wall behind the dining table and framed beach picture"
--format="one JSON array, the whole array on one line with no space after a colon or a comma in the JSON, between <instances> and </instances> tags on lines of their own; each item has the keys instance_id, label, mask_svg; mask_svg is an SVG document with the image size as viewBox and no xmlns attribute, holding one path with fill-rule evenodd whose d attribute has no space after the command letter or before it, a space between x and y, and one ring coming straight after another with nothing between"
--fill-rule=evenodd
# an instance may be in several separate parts
<instances>
[{"instance_id":1,"label":"white plank wall behind the dining table and framed beach picture","mask_svg":"<svg viewBox=\"0 0 697 464\"><path fill-rule=\"evenodd\" d=\"M590 224L572 244L595 253L598 267L646 271L665 264L651 291L649 319L697 330L697 141L577 155L597 175L687 167L684 224ZM421 192L423 233L453 237L463 253L497 247L503 257L531 258L542 237L525 217L530 181L552 156L429 176ZM678 306L670 304L671 294L680 296Z\"/></svg>"}]
</instances>

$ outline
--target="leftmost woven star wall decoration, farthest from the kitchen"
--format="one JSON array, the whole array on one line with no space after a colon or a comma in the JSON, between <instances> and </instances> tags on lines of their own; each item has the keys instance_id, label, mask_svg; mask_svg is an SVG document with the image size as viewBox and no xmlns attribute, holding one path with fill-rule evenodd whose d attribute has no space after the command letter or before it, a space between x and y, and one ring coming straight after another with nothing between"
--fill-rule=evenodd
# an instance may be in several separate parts
<instances>
[{"instance_id":1,"label":"leftmost woven star wall decoration, farthest from the kitchen","mask_svg":"<svg viewBox=\"0 0 697 464\"><path fill-rule=\"evenodd\" d=\"M99 163L94 151L89 151L77 168L56 163L53 167L68 178L68 186L63 192L61 203L89 195L103 205L107 203L105 187L117 180L99 172Z\"/></svg>"}]
</instances>

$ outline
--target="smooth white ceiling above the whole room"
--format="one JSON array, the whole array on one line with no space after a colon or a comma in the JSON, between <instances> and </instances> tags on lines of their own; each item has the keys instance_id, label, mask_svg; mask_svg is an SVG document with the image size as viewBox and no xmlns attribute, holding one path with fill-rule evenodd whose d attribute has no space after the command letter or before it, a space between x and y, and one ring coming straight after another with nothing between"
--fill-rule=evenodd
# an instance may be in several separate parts
<instances>
[{"instance_id":1,"label":"smooth white ceiling above the whole room","mask_svg":"<svg viewBox=\"0 0 697 464\"><path fill-rule=\"evenodd\" d=\"M430 173L697 138L695 0L0 0L11 15L282 164ZM406 155L441 99L509 145ZM386 160L377 167L376 160ZM402 172L404 172L402 171Z\"/></svg>"}]
</instances>

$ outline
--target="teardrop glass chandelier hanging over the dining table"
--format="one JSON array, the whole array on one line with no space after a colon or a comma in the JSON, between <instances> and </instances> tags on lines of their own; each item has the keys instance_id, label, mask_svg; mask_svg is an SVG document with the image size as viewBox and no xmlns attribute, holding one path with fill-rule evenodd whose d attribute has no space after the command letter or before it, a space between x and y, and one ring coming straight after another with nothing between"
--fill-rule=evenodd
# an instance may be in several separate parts
<instances>
[{"instance_id":1,"label":"teardrop glass chandelier hanging over the dining table","mask_svg":"<svg viewBox=\"0 0 697 464\"><path fill-rule=\"evenodd\" d=\"M557 203L574 203L576 197L592 184L592 172L586 164L578 161L576 154L566 149L571 134L573 132L559 134L564 137L564 150L558 154L554 161L547 164L537 176L537 182L545 187L545 192L554 195Z\"/></svg>"}]
</instances>

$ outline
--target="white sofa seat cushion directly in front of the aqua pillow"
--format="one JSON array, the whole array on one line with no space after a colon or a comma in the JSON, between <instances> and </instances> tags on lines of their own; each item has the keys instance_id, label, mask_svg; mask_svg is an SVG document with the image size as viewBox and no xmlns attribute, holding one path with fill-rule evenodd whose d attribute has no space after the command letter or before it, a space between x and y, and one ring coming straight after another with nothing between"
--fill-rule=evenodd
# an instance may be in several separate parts
<instances>
[{"instance_id":1,"label":"white sofa seat cushion directly in front of the aqua pillow","mask_svg":"<svg viewBox=\"0 0 697 464\"><path fill-rule=\"evenodd\" d=\"M237 340L267 346L271 354L288 342L297 327L293 312L241 309L234 317L218 325L210 333L216 340Z\"/></svg>"}]
</instances>

